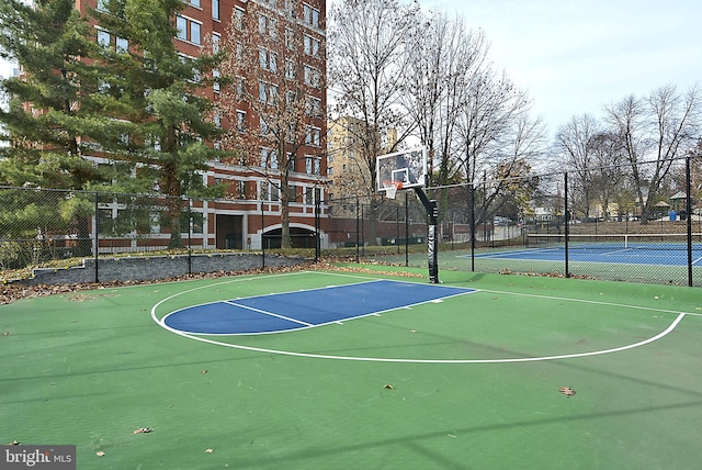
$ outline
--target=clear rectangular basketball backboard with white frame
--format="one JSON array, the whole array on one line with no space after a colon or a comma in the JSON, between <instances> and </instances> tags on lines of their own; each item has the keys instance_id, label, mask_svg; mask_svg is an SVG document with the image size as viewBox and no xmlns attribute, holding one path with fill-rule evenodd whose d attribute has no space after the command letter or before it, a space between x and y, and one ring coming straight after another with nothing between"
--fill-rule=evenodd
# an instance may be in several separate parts
<instances>
[{"instance_id":1,"label":"clear rectangular basketball backboard with white frame","mask_svg":"<svg viewBox=\"0 0 702 470\"><path fill-rule=\"evenodd\" d=\"M422 188L427 184L427 150L424 147L395 152L376 157L378 191L387 188Z\"/></svg>"}]
</instances>

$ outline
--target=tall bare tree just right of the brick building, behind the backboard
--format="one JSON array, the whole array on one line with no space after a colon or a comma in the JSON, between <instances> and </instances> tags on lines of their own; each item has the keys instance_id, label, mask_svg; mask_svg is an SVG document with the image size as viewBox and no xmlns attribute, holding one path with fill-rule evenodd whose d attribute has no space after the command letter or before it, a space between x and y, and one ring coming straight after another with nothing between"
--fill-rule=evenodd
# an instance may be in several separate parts
<instances>
[{"instance_id":1,"label":"tall bare tree just right of the brick building, behind the backboard","mask_svg":"<svg viewBox=\"0 0 702 470\"><path fill-rule=\"evenodd\" d=\"M337 116L352 116L349 128L359 161L367 166L370 184L364 188L375 221L375 157L399 145L411 128L400 105L405 91L405 45L417 31L419 7L397 0L346 0L331 7L329 27L329 91ZM393 132L390 132L393 131ZM388 135L397 133L390 143ZM388 148L390 144L390 148ZM371 224L371 239L375 239Z\"/></svg>"}]
</instances>

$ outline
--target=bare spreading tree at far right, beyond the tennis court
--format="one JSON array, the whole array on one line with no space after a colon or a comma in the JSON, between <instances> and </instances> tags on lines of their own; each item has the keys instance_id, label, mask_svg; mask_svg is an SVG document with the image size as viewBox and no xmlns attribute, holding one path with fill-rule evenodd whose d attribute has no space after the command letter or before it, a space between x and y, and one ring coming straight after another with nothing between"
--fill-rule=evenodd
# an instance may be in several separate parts
<instances>
[{"instance_id":1,"label":"bare spreading tree at far right, beyond the tennis court","mask_svg":"<svg viewBox=\"0 0 702 470\"><path fill-rule=\"evenodd\" d=\"M646 98L627 97L607 107L605 121L622 139L645 224L664 195L673 163L699 138L699 89L680 94L676 87L667 86Z\"/></svg>"}]
</instances>

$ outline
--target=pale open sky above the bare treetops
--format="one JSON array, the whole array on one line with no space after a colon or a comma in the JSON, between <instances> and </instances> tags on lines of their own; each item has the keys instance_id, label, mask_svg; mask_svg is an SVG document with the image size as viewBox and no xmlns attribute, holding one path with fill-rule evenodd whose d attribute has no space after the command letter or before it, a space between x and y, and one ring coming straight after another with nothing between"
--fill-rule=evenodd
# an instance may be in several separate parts
<instances>
[{"instance_id":1,"label":"pale open sky above the bare treetops","mask_svg":"<svg viewBox=\"0 0 702 470\"><path fill-rule=\"evenodd\" d=\"M675 85L702 87L700 0L420 0L480 27L550 134L574 115Z\"/></svg>"}]
</instances>

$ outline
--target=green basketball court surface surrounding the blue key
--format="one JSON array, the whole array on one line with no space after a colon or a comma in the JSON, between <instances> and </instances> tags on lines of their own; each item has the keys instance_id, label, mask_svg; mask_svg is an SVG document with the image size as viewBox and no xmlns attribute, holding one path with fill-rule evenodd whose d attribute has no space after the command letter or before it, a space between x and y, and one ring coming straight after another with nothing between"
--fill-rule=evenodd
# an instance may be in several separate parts
<instances>
[{"instance_id":1,"label":"green basketball court surface surrounding the blue key","mask_svg":"<svg viewBox=\"0 0 702 470\"><path fill-rule=\"evenodd\" d=\"M79 469L699 467L695 288L444 271L476 292L280 334L158 323L220 300L427 283L365 268L1 305L0 443L76 445Z\"/></svg>"}]
</instances>

